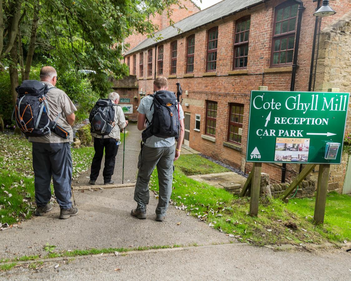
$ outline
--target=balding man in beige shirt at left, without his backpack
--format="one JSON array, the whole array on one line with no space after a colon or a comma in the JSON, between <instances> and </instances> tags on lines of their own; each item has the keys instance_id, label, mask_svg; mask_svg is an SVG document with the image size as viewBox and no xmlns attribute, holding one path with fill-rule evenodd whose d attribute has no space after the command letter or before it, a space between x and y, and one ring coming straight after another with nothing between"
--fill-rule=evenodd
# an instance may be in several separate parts
<instances>
[{"instance_id":1,"label":"balding man in beige shirt at left, without his backpack","mask_svg":"<svg viewBox=\"0 0 351 281\"><path fill-rule=\"evenodd\" d=\"M71 181L72 157L69 142L73 141L72 125L75 120L74 112L77 111L67 94L55 87L57 72L52 66L44 66L40 70L40 81L48 85L46 99L50 115L54 119L60 115L57 124L69 132L69 139L61 138L54 132L42 137L29 137L32 142L33 170L36 216L42 216L51 211L52 205L50 182L54 185L56 200L60 205L60 218L69 218L77 215L78 208L72 206Z\"/></svg>"}]
</instances>

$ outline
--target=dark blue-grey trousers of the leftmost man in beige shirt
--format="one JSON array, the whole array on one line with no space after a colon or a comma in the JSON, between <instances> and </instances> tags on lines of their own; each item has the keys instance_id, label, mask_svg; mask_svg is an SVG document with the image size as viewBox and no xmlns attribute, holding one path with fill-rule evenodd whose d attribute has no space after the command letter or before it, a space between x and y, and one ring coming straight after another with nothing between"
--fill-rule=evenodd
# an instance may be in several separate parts
<instances>
[{"instance_id":1,"label":"dark blue-grey trousers of the leftmost man in beige shirt","mask_svg":"<svg viewBox=\"0 0 351 281\"><path fill-rule=\"evenodd\" d=\"M69 143L32 143L35 202L44 207L51 199L51 176L61 209L72 207L72 157Z\"/></svg>"}]
</instances>

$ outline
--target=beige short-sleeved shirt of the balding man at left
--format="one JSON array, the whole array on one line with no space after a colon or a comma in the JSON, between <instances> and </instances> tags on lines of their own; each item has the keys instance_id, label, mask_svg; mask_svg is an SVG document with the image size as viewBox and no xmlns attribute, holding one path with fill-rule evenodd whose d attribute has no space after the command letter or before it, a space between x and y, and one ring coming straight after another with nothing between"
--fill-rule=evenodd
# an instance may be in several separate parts
<instances>
[{"instance_id":1,"label":"beige short-sleeved shirt of the balding man at left","mask_svg":"<svg viewBox=\"0 0 351 281\"><path fill-rule=\"evenodd\" d=\"M48 87L53 87L53 85L49 82L42 81L47 84ZM75 108L72 101L69 99L67 94L57 88L53 88L49 90L46 94L47 103L49 105L50 115L49 119L54 121L55 118L61 113L60 118L57 120L57 124L62 126L65 130L69 132L69 139L61 138L55 133L51 132L51 135L47 134L43 137L29 137L29 142L38 142L38 143L66 143L73 142L73 130L72 126L67 123L66 117L71 115L77 108Z\"/></svg>"}]
</instances>

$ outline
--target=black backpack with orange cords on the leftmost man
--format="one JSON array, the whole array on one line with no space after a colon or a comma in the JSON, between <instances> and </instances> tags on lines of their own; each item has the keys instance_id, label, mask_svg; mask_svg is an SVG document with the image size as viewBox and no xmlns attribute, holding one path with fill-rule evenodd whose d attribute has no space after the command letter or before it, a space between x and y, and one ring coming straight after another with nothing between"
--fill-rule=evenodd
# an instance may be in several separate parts
<instances>
[{"instance_id":1,"label":"black backpack with orange cords on the leftmost man","mask_svg":"<svg viewBox=\"0 0 351 281\"><path fill-rule=\"evenodd\" d=\"M16 87L18 93L16 105L13 110L13 119L26 137L42 137L54 132L59 137L69 138L69 132L57 125L57 120L49 119L50 110L46 94L56 88L37 80L24 80L22 85Z\"/></svg>"}]
</instances>

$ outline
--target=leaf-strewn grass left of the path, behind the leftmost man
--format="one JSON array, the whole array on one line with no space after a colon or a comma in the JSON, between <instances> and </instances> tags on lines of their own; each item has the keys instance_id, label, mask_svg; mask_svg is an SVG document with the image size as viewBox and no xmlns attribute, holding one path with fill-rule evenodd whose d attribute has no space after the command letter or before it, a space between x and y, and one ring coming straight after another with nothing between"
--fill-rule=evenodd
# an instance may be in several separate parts
<instances>
[{"instance_id":1,"label":"leaf-strewn grass left of the path, behind the leftmost man","mask_svg":"<svg viewBox=\"0 0 351 281\"><path fill-rule=\"evenodd\" d=\"M0 133L0 223L9 225L32 216L34 173L32 144L25 138ZM94 148L72 149L73 177L90 167Z\"/></svg>"}]
</instances>

